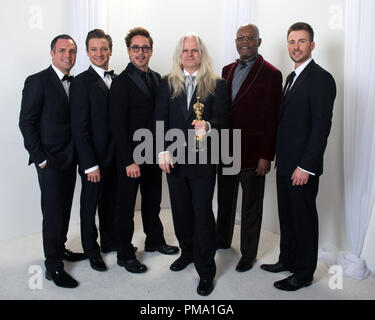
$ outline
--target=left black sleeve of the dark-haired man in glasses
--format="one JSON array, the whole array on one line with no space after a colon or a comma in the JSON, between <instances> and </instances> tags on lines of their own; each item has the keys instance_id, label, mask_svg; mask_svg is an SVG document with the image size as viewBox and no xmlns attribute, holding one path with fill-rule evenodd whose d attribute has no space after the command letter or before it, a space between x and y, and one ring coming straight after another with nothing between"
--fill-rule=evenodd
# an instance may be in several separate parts
<instances>
[{"instance_id":1,"label":"left black sleeve of the dark-haired man in glasses","mask_svg":"<svg viewBox=\"0 0 375 320\"><path fill-rule=\"evenodd\" d=\"M123 78L113 80L109 92L109 118L117 158L122 166L134 163L132 140L129 136L129 88Z\"/></svg>"}]
</instances>

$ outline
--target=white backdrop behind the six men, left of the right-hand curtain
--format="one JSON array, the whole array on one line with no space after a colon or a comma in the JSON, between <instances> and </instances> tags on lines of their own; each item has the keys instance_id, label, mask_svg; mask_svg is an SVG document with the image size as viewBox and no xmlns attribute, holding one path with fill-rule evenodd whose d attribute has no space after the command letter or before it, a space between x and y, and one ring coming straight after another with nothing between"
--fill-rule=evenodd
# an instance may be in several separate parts
<instances>
[{"instance_id":1,"label":"white backdrop behind the six men, left of the right-hand curtain","mask_svg":"<svg viewBox=\"0 0 375 320\"><path fill-rule=\"evenodd\" d=\"M124 37L128 30L135 26L143 26L151 32L154 53L150 66L161 74L169 71L177 39L188 31L195 31L203 37L218 74L221 73L223 65L230 62L230 51L233 53L235 37L235 34L231 33L237 28L230 26L233 15L230 16L229 9L235 2L233 0L191 0L188 3L182 0L95 0L90 1L90 5L96 1L107 9L107 15L97 15L96 20L82 16L81 23L78 24L78 0L9 0L0 12L1 27L10 33L7 41L0 44L1 52L9 53L10 57L9 61L4 63L5 69L0 78L0 239L41 230L40 193L36 172L33 167L27 166L28 155L23 148L18 129L18 116L24 79L50 64L49 43L55 35L68 33L79 38L89 31L83 30L85 25L89 29L104 28L113 38L110 68L117 73L128 63ZM89 6L87 1L82 3ZM321 247L346 250L348 244L343 180L345 0L254 0L243 3L251 10L244 12L245 17L247 14L252 17L249 22L257 24L260 29L263 39L260 53L279 68L284 76L293 67L286 49L286 31L292 23L306 21L313 26L316 33L314 59L331 72L336 80L338 95L325 155L325 174L320 182L318 211ZM238 22L238 26L242 23L244 21ZM81 42L78 49L80 52L84 51ZM79 59L73 74L87 66L84 54L80 55ZM79 221L79 191L78 182L72 223ZM168 205L167 192L164 193L163 205ZM274 232L279 230L274 170L266 182L263 228ZM374 234L375 228L369 230ZM371 239L371 235L366 237L366 241ZM365 247L367 248L366 243ZM375 270L374 254L367 250L366 255L369 261L373 261L370 268Z\"/></svg>"}]
</instances>

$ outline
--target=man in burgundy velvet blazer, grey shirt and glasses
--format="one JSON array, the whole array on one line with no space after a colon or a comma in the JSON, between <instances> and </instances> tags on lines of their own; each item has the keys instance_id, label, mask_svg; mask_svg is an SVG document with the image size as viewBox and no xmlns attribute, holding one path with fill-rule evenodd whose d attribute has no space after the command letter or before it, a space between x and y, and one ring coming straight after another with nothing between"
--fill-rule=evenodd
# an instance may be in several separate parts
<instances>
[{"instance_id":1,"label":"man in burgundy velvet blazer, grey shirt and glasses","mask_svg":"<svg viewBox=\"0 0 375 320\"><path fill-rule=\"evenodd\" d=\"M223 68L232 98L230 129L241 129L241 171L218 174L217 248L230 248L238 187L242 186L241 254L236 270L250 270L257 256L262 224L265 175L275 155L277 117L282 76L258 54L262 43L253 25L241 26L236 46L240 55ZM230 140L231 141L231 140Z\"/></svg>"}]
</instances>

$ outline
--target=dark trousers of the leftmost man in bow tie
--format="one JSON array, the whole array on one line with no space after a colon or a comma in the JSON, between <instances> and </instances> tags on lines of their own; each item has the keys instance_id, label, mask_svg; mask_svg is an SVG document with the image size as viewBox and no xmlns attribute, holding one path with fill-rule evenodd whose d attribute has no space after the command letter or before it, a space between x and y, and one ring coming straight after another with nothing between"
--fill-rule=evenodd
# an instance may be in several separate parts
<instances>
[{"instance_id":1,"label":"dark trousers of the leftmost man in bow tie","mask_svg":"<svg viewBox=\"0 0 375 320\"><path fill-rule=\"evenodd\" d=\"M62 257L67 240L70 211L76 183L76 165L59 170L47 163L35 165L41 192L42 234L45 266L50 272L64 266Z\"/></svg>"}]
</instances>

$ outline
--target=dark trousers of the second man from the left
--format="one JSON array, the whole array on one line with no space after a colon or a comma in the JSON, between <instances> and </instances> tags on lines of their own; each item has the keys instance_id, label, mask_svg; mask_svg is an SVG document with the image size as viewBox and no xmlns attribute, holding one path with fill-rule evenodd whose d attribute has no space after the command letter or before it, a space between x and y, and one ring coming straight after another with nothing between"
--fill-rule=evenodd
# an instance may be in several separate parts
<instances>
[{"instance_id":1,"label":"dark trousers of the second man from the left","mask_svg":"<svg viewBox=\"0 0 375 320\"><path fill-rule=\"evenodd\" d=\"M79 170L82 181L81 190L81 239L82 247L88 257L98 255L98 231L95 224L96 211L99 217L100 245L116 247L115 208L116 208L116 167L102 168L101 180L94 183L87 180L87 174Z\"/></svg>"}]
</instances>

